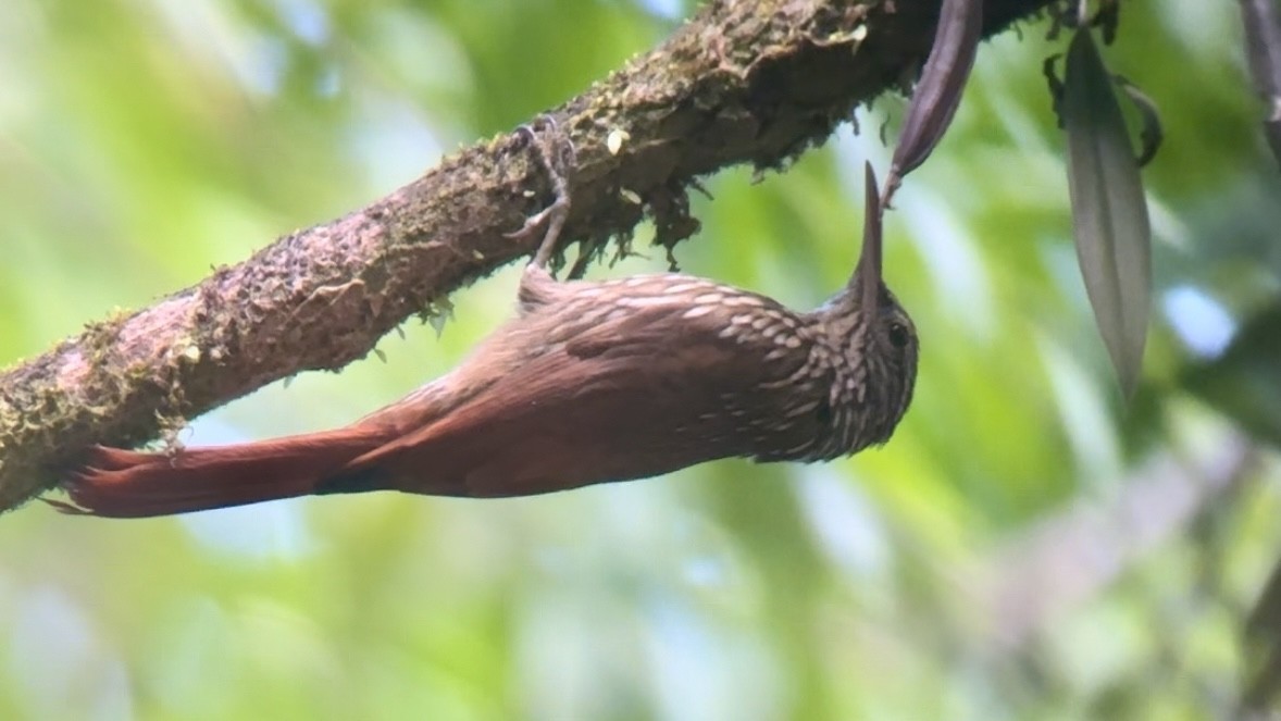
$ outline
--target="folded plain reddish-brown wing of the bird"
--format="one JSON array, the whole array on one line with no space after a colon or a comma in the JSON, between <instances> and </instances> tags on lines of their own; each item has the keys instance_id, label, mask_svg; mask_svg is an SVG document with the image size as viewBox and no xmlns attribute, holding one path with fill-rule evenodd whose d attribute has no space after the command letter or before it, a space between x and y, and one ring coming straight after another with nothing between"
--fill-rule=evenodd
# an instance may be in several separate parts
<instances>
[{"instance_id":1,"label":"folded plain reddish-brown wing of the bird","mask_svg":"<svg viewBox=\"0 0 1281 721\"><path fill-rule=\"evenodd\" d=\"M767 364L776 342L728 333L722 314L688 311L637 302L598 323L569 319L571 332L524 319L519 330L544 333L551 350L443 419L357 457L345 475L415 493L525 496L746 455L744 414L733 415L730 398L801 361Z\"/></svg>"}]
</instances>

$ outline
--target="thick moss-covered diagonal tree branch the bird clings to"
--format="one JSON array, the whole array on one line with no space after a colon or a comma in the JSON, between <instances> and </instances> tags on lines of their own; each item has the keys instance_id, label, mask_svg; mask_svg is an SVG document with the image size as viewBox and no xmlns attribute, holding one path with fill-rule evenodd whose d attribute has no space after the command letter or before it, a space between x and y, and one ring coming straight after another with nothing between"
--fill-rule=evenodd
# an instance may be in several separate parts
<instances>
[{"instance_id":1,"label":"thick moss-covered diagonal tree branch the bird clings to","mask_svg":"<svg viewBox=\"0 0 1281 721\"><path fill-rule=\"evenodd\" d=\"M988 0L985 33L1048 4ZM936 14L933 0L711 3L551 113L579 149L564 237L592 255L646 211L658 242L688 237L692 182L739 163L778 168L822 142L856 104L910 77ZM617 152L611 132L626 138ZM528 254L505 233L548 198L516 136L478 143L364 209L9 368L0 510L51 487L88 444L138 443L273 380L365 356L406 318Z\"/></svg>"}]
</instances>

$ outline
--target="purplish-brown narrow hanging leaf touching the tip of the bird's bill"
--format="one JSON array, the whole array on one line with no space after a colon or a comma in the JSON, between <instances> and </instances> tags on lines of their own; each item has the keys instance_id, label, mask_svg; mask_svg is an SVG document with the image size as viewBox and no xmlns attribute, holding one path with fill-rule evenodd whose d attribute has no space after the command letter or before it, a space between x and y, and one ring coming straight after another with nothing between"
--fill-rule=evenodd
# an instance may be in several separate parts
<instances>
[{"instance_id":1,"label":"purplish-brown narrow hanging leaf touching the tip of the bird's bill","mask_svg":"<svg viewBox=\"0 0 1281 721\"><path fill-rule=\"evenodd\" d=\"M934 47L925 60L921 82L912 92L903 133L885 178L883 206L889 205L903 178L925 163L952 124L952 117L961 105L961 92L974 68L980 37L983 0L943 0Z\"/></svg>"}]
</instances>

